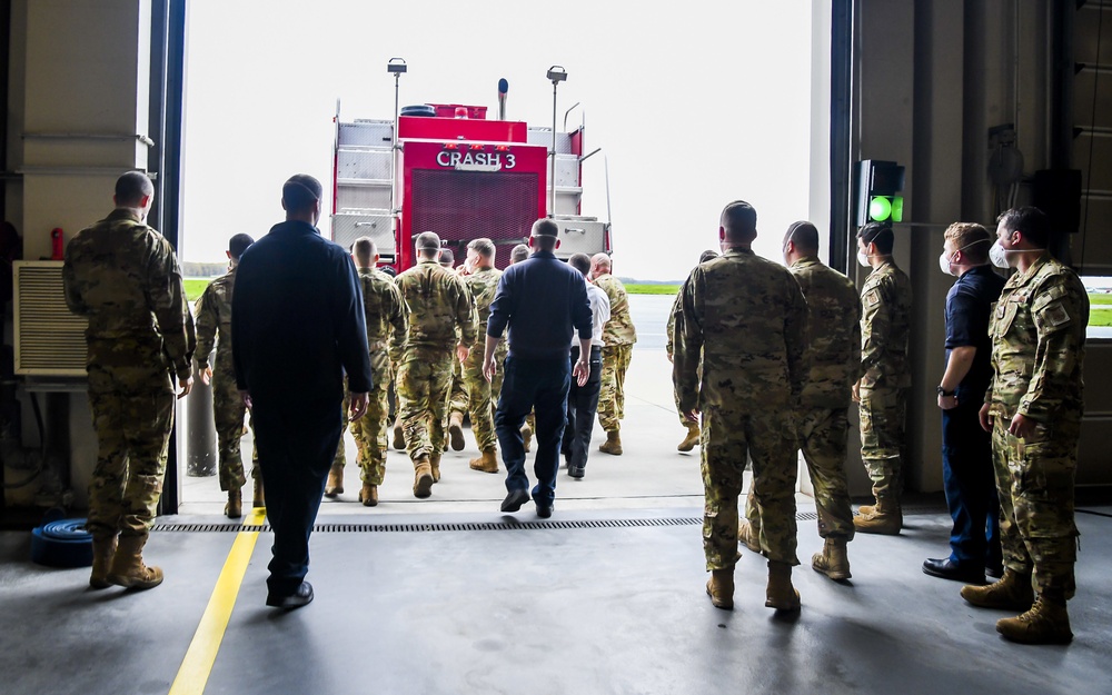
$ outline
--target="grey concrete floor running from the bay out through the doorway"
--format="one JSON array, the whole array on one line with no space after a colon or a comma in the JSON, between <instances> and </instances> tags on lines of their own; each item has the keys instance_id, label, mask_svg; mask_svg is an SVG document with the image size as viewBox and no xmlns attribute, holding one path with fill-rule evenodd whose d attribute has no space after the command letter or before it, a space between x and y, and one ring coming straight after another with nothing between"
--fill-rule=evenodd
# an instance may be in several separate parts
<instances>
[{"instance_id":1,"label":"grey concrete floor running from the bay out through the doorway","mask_svg":"<svg viewBox=\"0 0 1112 695\"><path fill-rule=\"evenodd\" d=\"M1066 647L1004 642L994 623L1006 614L972 608L959 584L922 573L947 549L937 496L911 506L901 536L858 536L854 578L838 585L810 568L822 542L801 495L800 615L764 607L765 563L747 552L735 609L714 608L698 449L675 451L683 429L663 340L637 326L625 454L593 453L582 481L562 475L552 519L532 505L498 512L504 478L466 468L470 433L428 500L413 497L411 466L391 453L383 504L361 507L349 464L347 490L321 506L317 597L300 610L264 605L267 532L241 585L217 588L248 534L219 530L238 526L220 516L215 478L187 478L181 514L159 518L217 530L156 530L146 555L167 578L150 592L90 590L87 568L33 565L29 534L0 533L0 694L162 694L187 677L203 689L175 693L1112 693L1108 506L1078 515ZM234 606L211 671L183 669L195 633L220 635L201 619L214 595Z\"/></svg>"}]
</instances>

